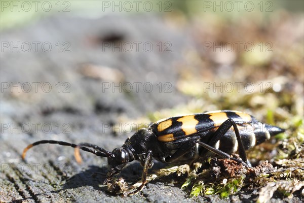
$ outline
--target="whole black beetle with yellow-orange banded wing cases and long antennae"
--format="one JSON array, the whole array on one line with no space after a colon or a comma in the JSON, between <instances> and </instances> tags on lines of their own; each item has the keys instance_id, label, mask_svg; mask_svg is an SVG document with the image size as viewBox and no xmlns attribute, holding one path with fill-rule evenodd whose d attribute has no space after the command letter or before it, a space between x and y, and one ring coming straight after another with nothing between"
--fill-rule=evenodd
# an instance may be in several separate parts
<instances>
[{"instance_id":1,"label":"whole black beetle with yellow-orange banded wing cases and long antennae","mask_svg":"<svg viewBox=\"0 0 304 203\"><path fill-rule=\"evenodd\" d=\"M245 150L284 131L279 127L258 122L253 116L243 112L213 111L176 116L152 123L148 128L138 130L123 146L112 152L89 143L75 145L42 140L27 146L22 158L24 159L26 151L35 145L50 143L70 146L107 157L107 178L119 174L128 162L138 160L144 169L142 185L135 192L137 193L146 184L147 170L153 166L153 157L165 163L191 164L217 154L250 167ZM239 153L242 160L231 157L230 154L235 152Z\"/></svg>"}]
</instances>

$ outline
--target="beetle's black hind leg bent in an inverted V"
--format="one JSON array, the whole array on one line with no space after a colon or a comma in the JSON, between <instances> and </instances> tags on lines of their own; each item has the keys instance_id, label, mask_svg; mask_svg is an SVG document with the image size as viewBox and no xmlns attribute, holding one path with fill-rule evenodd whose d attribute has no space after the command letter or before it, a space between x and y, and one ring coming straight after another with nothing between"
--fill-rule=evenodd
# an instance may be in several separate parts
<instances>
[{"instance_id":1,"label":"beetle's black hind leg bent in an inverted V","mask_svg":"<svg viewBox=\"0 0 304 203\"><path fill-rule=\"evenodd\" d=\"M217 143L221 138L224 137L225 133L233 126L234 131L236 133L237 141L238 141L238 146L239 146L239 155L241 159L244 162L247 162L247 157L246 157L246 152L244 145L241 140L240 132L238 129L237 124L233 119L227 119L225 122L223 122L218 129L215 131L214 135L212 136L211 141L208 143L209 146L214 146L215 143Z\"/></svg>"}]
</instances>

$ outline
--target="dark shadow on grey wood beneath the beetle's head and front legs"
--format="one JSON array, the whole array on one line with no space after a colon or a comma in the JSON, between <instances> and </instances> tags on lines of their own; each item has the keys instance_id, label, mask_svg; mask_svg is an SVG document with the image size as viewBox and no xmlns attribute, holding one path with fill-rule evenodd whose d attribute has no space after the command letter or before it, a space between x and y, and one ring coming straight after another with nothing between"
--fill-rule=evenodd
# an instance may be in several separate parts
<instances>
[{"instance_id":1,"label":"dark shadow on grey wood beneath the beetle's head and front legs","mask_svg":"<svg viewBox=\"0 0 304 203\"><path fill-rule=\"evenodd\" d=\"M164 168L165 166L167 166L167 164L155 161L153 168L148 171L148 174L153 173L154 170ZM82 186L91 186L96 190L100 190L107 194L110 194L107 191L106 186L103 185L104 181L106 180L107 170L107 166L100 167L96 165L89 165L89 168L87 170L68 178L64 183L62 190L79 188ZM118 177L124 178L124 180L127 181L128 184L132 185L141 179L142 170L143 167L140 165L140 163L134 162L124 168L118 175ZM169 181L172 181L172 178L162 178L161 181L159 180L158 182L165 183Z\"/></svg>"}]
</instances>

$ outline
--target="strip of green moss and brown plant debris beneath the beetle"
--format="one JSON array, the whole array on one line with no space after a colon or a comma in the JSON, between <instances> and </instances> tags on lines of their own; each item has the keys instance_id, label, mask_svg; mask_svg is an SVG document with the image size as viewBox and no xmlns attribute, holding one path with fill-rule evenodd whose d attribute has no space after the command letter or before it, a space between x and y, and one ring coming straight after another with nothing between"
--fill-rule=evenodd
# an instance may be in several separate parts
<instances>
[{"instance_id":1,"label":"strip of green moss and brown plant debris beneath the beetle","mask_svg":"<svg viewBox=\"0 0 304 203\"><path fill-rule=\"evenodd\" d=\"M210 159L210 167L202 170L202 163L194 163L192 167L187 164L162 168L147 177L147 182L176 173L177 176L187 174L181 188L189 190L191 197L201 195L219 194L221 198L239 192L246 185L260 188L258 201L267 202L275 191L283 193L288 198L304 186L303 168L279 168L273 167L269 161L247 168L243 164L231 159ZM200 173L199 173L200 172ZM126 196L136 190L141 181L128 186L123 178L108 180L108 191Z\"/></svg>"}]
</instances>

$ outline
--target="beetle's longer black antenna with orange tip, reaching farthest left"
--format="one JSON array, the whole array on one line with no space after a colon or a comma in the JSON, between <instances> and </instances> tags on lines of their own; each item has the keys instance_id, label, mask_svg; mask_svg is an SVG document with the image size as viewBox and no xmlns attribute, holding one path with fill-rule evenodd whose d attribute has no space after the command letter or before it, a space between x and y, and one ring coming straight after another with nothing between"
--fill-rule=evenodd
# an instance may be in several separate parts
<instances>
[{"instance_id":1,"label":"beetle's longer black antenna with orange tip, reaching farthest left","mask_svg":"<svg viewBox=\"0 0 304 203\"><path fill-rule=\"evenodd\" d=\"M33 146L40 145L40 144L58 144L58 145L63 145L63 146L70 146L72 148L79 148L83 151L90 152L92 154L95 154L96 156L101 156L101 157L109 157L111 155L111 152L106 151L105 149L102 149L102 148L99 148L100 150L97 151L97 150L92 150L92 149L89 149L89 148L81 146L81 145L75 145L75 144L72 144L72 143L67 143L67 142L62 142L62 141L41 140L41 141L38 141L38 142L35 142L35 143L32 143L32 144L28 145L23 150L22 159L25 159L25 155L26 155L27 150L29 150Z\"/></svg>"}]
</instances>

